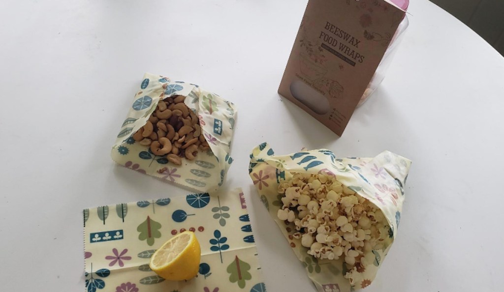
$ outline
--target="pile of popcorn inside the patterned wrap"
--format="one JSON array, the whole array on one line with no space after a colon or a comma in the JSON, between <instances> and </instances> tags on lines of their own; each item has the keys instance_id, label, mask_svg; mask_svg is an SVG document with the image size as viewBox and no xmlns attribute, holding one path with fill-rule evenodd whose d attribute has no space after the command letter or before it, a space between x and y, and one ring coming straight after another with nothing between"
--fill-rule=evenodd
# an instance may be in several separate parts
<instances>
[{"instance_id":1,"label":"pile of popcorn inside the patterned wrap","mask_svg":"<svg viewBox=\"0 0 504 292\"><path fill-rule=\"evenodd\" d=\"M297 173L282 181L278 192L284 195L278 218L294 223L292 236L311 256L344 257L351 270L372 264L372 250L382 249L389 238L383 212L334 176Z\"/></svg>"}]
</instances>

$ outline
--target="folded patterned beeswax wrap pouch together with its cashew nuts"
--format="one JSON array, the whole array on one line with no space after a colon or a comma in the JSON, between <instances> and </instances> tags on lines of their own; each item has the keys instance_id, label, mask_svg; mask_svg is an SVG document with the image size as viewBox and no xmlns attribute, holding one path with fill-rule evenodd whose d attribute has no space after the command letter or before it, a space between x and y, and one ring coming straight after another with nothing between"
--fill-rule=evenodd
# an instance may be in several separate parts
<instances>
[{"instance_id":1,"label":"folded patterned beeswax wrap pouch together with its cashew nuts","mask_svg":"<svg viewBox=\"0 0 504 292\"><path fill-rule=\"evenodd\" d=\"M222 185L236 109L197 85L145 74L121 125L112 159L200 192Z\"/></svg>"}]
</instances>

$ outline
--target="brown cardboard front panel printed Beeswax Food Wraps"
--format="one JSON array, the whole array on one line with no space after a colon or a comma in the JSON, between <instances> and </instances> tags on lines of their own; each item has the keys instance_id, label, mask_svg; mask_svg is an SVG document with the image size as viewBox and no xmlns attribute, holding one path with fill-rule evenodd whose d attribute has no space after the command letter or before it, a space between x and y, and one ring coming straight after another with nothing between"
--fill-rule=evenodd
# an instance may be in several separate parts
<instances>
[{"instance_id":1,"label":"brown cardboard front panel printed Beeswax Food Wraps","mask_svg":"<svg viewBox=\"0 0 504 292\"><path fill-rule=\"evenodd\" d=\"M384 0L310 0L278 93L340 135L405 12Z\"/></svg>"}]
</instances>

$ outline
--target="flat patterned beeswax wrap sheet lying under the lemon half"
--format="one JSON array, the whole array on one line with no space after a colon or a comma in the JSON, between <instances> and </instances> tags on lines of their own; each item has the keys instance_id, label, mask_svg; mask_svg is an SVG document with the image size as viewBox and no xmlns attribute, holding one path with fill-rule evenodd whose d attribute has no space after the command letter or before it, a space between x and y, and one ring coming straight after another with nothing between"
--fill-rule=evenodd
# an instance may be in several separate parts
<instances>
[{"instance_id":1,"label":"flat patterned beeswax wrap sheet lying under the lemon half","mask_svg":"<svg viewBox=\"0 0 504 292\"><path fill-rule=\"evenodd\" d=\"M157 248L194 231L197 277L168 281L149 268ZM265 292L241 189L84 210L87 292Z\"/></svg>"}]
</instances>

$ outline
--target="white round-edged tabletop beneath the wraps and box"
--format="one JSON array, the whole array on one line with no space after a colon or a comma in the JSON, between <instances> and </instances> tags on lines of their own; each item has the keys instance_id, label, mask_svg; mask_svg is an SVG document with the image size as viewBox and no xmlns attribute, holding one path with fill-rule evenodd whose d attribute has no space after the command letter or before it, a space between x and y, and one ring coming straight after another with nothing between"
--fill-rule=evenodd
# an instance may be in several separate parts
<instances>
[{"instance_id":1,"label":"white round-edged tabletop beneath the wraps and box","mask_svg":"<svg viewBox=\"0 0 504 292\"><path fill-rule=\"evenodd\" d=\"M387 78L337 138L276 93L305 4L0 2L2 289L82 291L83 208L187 193L109 158L146 71L237 104L225 187L245 191L269 291L315 289L251 186L263 141L413 160L397 240L367 291L501 289L504 58L414 1Z\"/></svg>"}]
</instances>

